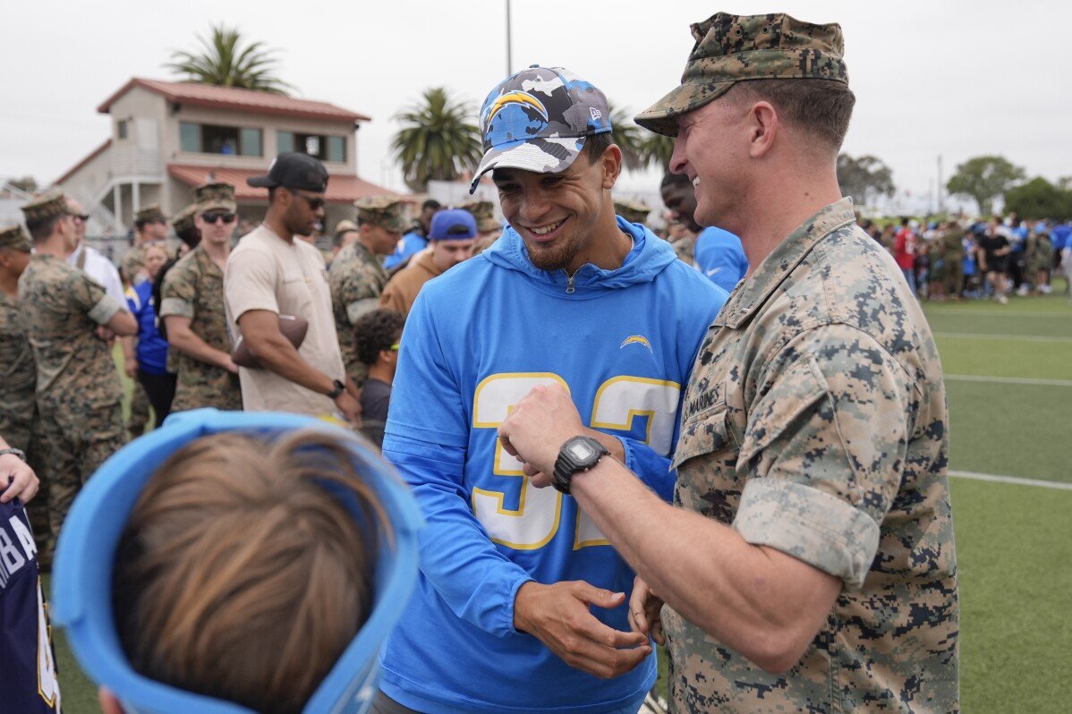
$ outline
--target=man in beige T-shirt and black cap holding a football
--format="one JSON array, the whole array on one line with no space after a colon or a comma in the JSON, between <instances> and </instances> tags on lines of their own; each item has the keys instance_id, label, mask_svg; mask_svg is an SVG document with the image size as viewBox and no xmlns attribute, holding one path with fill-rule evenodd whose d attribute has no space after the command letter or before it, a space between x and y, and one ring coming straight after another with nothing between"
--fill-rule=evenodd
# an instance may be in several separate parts
<instances>
[{"instance_id":1,"label":"man in beige T-shirt and black cap holding a football","mask_svg":"<svg viewBox=\"0 0 1072 714\"><path fill-rule=\"evenodd\" d=\"M242 238L224 270L232 336L242 337L262 363L239 368L242 405L358 422L361 406L343 367L324 258L296 239L312 234L324 220L328 173L307 153L281 153L266 176L247 182L268 189L268 212ZM283 336L280 315L308 321L300 347Z\"/></svg>"}]
</instances>

